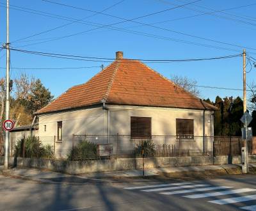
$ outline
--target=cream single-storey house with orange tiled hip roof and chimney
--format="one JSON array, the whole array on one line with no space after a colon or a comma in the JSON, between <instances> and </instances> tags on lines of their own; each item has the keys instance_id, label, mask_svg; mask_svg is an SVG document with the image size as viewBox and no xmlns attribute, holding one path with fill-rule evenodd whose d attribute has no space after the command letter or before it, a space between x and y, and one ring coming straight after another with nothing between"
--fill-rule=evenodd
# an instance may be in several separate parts
<instances>
[{"instance_id":1,"label":"cream single-storey house with orange tiled hip roof and chimney","mask_svg":"<svg viewBox=\"0 0 256 211\"><path fill-rule=\"evenodd\" d=\"M203 139L213 136L215 109L141 61L116 52L116 60L99 74L35 114L42 142L54 144L56 154L65 157L73 134L97 135L98 143L113 143L113 135L127 135L115 143L124 152L134 146L131 139L154 135L159 135L154 141L160 145L166 136L173 136L172 145L182 138L192 140L198 151L211 151L211 143L205 149Z\"/></svg>"}]
</instances>

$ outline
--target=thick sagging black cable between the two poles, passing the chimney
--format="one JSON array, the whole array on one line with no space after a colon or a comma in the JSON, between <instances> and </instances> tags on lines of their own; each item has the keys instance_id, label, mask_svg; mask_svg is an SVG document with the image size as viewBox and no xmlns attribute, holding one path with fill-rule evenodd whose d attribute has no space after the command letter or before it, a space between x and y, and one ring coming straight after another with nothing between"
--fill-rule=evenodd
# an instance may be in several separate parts
<instances>
[{"instance_id":1,"label":"thick sagging black cable between the two poles, passing the chimney","mask_svg":"<svg viewBox=\"0 0 256 211\"><path fill-rule=\"evenodd\" d=\"M85 60L85 61L101 61L101 62L112 62L116 59L114 58L99 58L99 57L89 57L89 56L79 56L79 55L72 55L72 54L54 54L50 52L38 52L38 51L26 51L22 49L12 49L12 51L18 51L18 52L24 52L28 54L36 54L40 56L50 56L50 57L56 57L56 58L65 58L65 59L79 59L79 60ZM214 60L214 59L227 59L227 58L236 58L242 56L242 54L234 54L234 55L228 55L228 56L219 56L214 58L193 58L193 59L125 59L121 60L121 62L125 61L147 61L147 62L182 62L182 61L204 61L204 60ZM97 60L96 60L97 59ZM102 61L107 60L107 61Z\"/></svg>"}]
</instances>

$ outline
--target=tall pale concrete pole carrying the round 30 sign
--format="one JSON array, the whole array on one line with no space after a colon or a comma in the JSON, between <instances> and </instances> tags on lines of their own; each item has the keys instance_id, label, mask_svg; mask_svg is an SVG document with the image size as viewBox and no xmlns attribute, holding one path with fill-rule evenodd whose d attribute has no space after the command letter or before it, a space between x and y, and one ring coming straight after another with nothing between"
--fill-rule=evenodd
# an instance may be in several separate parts
<instances>
[{"instance_id":1,"label":"tall pale concrete pole carrying the round 30 sign","mask_svg":"<svg viewBox=\"0 0 256 211\"><path fill-rule=\"evenodd\" d=\"M10 118L10 49L9 49L9 0L7 0L6 6L6 102L5 102L5 119ZM10 132L5 131L5 143L4 143L4 168L9 167L9 143Z\"/></svg>"}]
</instances>

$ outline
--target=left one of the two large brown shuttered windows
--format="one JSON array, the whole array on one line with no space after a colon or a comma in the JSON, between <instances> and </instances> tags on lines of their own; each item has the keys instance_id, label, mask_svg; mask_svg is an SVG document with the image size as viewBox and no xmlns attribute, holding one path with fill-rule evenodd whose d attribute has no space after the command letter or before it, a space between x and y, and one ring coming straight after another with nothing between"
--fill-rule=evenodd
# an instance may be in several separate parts
<instances>
[{"instance_id":1,"label":"left one of the two large brown shuttered windows","mask_svg":"<svg viewBox=\"0 0 256 211\"><path fill-rule=\"evenodd\" d=\"M151 139L151 118L131 116L131 138Z\"/></svg>"}]
</instances>

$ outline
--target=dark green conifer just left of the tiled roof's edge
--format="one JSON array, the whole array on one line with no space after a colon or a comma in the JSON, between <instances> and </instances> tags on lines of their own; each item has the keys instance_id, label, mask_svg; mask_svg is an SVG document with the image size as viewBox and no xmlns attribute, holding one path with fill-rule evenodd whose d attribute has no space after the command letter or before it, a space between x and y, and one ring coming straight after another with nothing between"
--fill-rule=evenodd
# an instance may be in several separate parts
<instances>
[{"instance_id":1,"label":"dark green conifer just left of the tiled roof's edge","mask_svg":"<svg viewBox=\"0 0 256 211\"><path fill-rule=\"evenodd\" d=\"M27 109L30 113L34 113L49 104L52 98L53 96L49 89L45 88L40 79L37 79L33 86L31 86L31 92L28 94Z\"/></svg>"}]
</instances>

